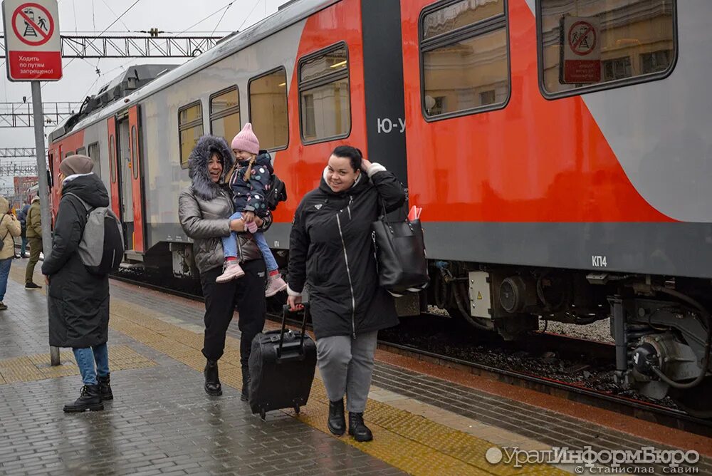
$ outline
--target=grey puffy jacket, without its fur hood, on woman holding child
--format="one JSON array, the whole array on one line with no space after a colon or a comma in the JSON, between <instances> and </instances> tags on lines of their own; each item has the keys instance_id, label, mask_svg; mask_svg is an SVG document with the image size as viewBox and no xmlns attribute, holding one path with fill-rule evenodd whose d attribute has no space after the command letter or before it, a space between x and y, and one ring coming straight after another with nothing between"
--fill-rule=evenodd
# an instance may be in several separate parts
<instances>
[{"instance_id":1,"label":"grey puffy jacket, without its fur hood, on woman holding child","mask_svg":"<svg viewBox=\"0 0 712 476\"><path fill-rule=\"evenodd\" d=\"M228 190L222 190L212 200L203 200L195 195L192 187L184 189L178 199L178 217L183 231L194 240L193 252L195 264L201 273L223 265L221 238L230 234L230 219L234 213L231 195ZM272 224L271 215L265 220L261 230L266 230ZM262 259L252 235L239 233L239 252L243 261Z\"/></svg>"}]
</instances>

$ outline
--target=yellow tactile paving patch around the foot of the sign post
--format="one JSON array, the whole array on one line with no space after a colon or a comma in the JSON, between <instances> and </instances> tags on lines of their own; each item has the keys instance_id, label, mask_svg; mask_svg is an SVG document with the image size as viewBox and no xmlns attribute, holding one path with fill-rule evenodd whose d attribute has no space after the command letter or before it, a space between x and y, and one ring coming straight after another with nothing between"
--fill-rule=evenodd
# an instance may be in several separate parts
<instances>
[{"instance_id":1,"label":"yellow tactile paving patch around the foot of the sign post","mask_svg":"<svg viewBox=\"0 0 712 476\"><path fill-rule=\"evenodd\" d=\"M72 351L60 352L60 360L62 365L56 367L49 365L49 353L1 360L0 385L79 375L79 368L74 361ZM145 358L128 346L109 345L109 368L112 372L155 365L154 361Z\"/></svg>"}]
</instances>

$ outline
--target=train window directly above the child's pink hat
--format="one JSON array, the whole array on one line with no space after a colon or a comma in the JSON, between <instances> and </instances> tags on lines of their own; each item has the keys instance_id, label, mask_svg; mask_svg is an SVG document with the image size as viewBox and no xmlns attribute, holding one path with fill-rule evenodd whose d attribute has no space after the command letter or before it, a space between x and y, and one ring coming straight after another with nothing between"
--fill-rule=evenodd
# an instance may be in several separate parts
<instances>
[{"instance_id":1,"label":"train window directly above the child's pink hat","mask_svg":"<svg viewBox=\"0 0 712 476\"><path fill-rule=\"evenodd\" d=\"M263 149L284 149L289 143L287 72L284 68L252 78L247 86L250 120Z\"/></svg>"}]
</instances>

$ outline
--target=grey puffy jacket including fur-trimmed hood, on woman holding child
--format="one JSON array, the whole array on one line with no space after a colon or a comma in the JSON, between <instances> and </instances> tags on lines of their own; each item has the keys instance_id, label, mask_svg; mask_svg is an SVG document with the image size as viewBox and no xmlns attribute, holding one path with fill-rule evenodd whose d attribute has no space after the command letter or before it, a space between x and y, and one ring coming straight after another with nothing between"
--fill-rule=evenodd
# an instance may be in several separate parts
<instances>
[{"instance_id":1,"label":"grey puffy jacket including fur-trimmed hood, on woman holding child","mask_svg":"<svg viewBox=\"0 0 712 476\"><path fill-rule=\"evenodd\" d=\"M219 183L208 173L208 162L213 154L222 160L223 173ZM220 185L231 169L234 158L224 138L204 135L190 152L188 164L192 184L178 198L178 218L183 231L194 240L195 264L201 273L223 265L225 255L221 238L230 234L230 219L234 213L232 194L226 185ZM265 231L272 224L272 215L263 217L260 228ZM238 234L238 252L242 261L262 259L262 254L251 234Z\"/></svg>"}]
</instances>

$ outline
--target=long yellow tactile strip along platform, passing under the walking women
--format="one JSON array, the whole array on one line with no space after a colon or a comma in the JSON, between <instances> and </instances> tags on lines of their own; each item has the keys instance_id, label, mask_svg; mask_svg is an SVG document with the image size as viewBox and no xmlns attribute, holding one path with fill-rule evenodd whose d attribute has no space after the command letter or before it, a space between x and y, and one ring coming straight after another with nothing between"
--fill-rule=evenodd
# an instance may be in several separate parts
<instances>
[{"instance_id":1,"label":"long yellow tactile strip along platform, passing under the walking women","mask_svg":"<svg viewBox=\"0 0 712 476\"><path fill-rule=\"evenodd\" d=\"M110 303L109 325L113 330L196 371L203 371L201 333L169 324L167 321L174 320L171 316L153 309L120 299L112 299ZM240 341L228 337L220 360L221 382L238 389L242 386L239 349ZM295 415L293 410L285 410L285 413L330 435L326 425L328 398L319 378L314 379L309 403L301 410L300 415ZM365 420L373 432L373 441L357 443L347 436L339 439L412 475L569 474L548 465L528 465L520 469L491 465L484 455L492 443L372 399L368 400Z\"/></svg>"}]
</instances>

